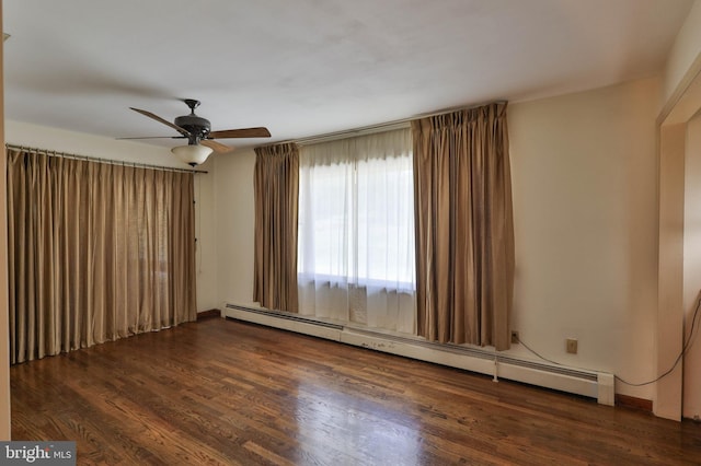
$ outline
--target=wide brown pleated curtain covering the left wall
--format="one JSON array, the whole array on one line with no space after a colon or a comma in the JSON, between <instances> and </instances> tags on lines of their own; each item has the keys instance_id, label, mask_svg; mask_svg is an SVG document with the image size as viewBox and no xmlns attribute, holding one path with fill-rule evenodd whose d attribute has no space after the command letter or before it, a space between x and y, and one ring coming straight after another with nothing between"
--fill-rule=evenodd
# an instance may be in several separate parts
<instances>
[{"instance_id":1,"label":"wide brown pleated curtain covering the left wall","mask_svg":"<svg viewBox=\"0 0 701 466\"><path fill-rule=\"evenodd\" d=\"M8 150L11 363L196 318L193 174Z\"/></svg>"}]
</instances>

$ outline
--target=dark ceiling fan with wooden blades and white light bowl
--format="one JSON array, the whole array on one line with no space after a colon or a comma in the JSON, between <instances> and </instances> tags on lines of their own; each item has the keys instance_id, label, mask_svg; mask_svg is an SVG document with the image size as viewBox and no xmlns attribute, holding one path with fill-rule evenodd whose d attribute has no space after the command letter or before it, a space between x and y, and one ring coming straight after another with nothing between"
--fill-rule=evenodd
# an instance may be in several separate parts
<instances>
[{"instance_id":1,"label":"dark ceiling fan with wooden blades and white light bowl","mask_svg":"<svg viewBox=\"0 0 701 466\"><path fill-rule=\"evenodd\" d=\"M183 162L188 165L199 165L207 160L211 151L216 152L230 152L232 147L222 144L215 141L215 139L232 139L232 138L269 138L271 131L264 127L257 128L240 128L240 129L225 129L221 131L212 131L211 124L208 119L195 115L195 108L199 106L199 101L194 98L183 100L185 105L189 107L189 115L183 115L175 118L173 123L161 118L160 116L152 114L148 110L140 108L131 108L134 112L140 113L156 121L162 123L165 126L173 128L180 133L180 136L173 136L173 139L187 139L187 145L179 145L171 149L171 152L179 155ZM143 137L143 138L119 138L119 139L156 139L162 138L160 136Z\"/></svg>"}]
</instances>

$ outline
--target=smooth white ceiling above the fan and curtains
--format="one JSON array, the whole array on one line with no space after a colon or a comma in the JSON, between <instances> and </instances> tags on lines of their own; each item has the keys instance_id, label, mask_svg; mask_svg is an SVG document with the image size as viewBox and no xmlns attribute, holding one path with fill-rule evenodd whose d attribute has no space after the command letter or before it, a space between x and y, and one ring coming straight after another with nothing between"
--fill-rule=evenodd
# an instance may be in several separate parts
<instances>
[{"instance_id":1,"label":"smooth white ceiling above the fan and curtains","mask_svg":"<svg viewBox=\"0 0 701 466\"><path fill-rule=\"evenodd\" d=\"M659 74L692 0L4 0L5 118L271 141ZM264 140L222 140L239 148ZM149 141L147 141L149 142ZM175 145L170 139L152 143Z\"/></svg>"}]
</instances>

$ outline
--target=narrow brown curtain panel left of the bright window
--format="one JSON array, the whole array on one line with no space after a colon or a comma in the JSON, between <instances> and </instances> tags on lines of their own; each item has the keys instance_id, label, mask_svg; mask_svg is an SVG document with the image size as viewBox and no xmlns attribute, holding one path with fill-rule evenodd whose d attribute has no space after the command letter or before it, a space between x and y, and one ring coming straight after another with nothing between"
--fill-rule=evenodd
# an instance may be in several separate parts
<instances>
[{"instance_id":1,"label":"narrow brown curtain panel left of the bright window","mask_svg":"<svg viewBox=\"0 0 701 466\"><path fill-rule=\"evenodd\" d=\"M255 148L255 265L253 301L297 312L299 149Z\"/></svg>"}]
</instances>

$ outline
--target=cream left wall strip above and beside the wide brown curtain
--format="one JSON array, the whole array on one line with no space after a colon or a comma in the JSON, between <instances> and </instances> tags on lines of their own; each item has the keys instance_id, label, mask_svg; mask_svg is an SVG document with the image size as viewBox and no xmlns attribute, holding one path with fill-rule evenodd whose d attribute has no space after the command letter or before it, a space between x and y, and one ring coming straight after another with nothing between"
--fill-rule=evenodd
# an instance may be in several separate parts
<instances>
[{"instance_id":1,"label":"cream left wall strip above and beside the wide brown curtain","mask_svg":"<svg viewBox=\"0 0 701 466\"><path fill-rule=\"evenodd\" d=\"M20 121L5 121L5 141L16 145L67 152L77 155L146 163L158 166L188 168L168 148L134 141L65 131ZM212 155L215 159L217 155ZM211 162L202 165L208 170ZM214 174L195 175L195 233L197 236L197 311L219 306L217 301L217 254L214 231Z\"/></svg>"}]
</instances>

